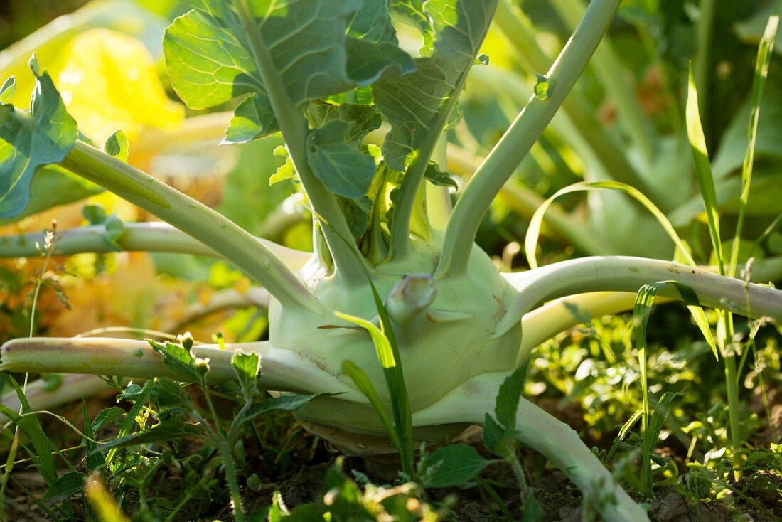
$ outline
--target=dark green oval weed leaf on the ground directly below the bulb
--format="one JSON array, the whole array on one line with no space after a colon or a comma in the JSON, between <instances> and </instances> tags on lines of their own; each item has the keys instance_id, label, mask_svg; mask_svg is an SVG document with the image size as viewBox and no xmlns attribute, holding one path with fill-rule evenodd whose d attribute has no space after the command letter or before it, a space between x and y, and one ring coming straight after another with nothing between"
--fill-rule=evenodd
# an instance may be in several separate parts
<instances>
[{"instance_id":1,"label":"dark green oval weed leaf on the ground directly below the bulb","mask_svg":"<svg viewBox=\"0 0 782 522\"><path fill-rule=\"evenodd\" d=\"M447 445L426 455L422 481L426 488L451 488L472 481L490 463L470 445Z\"/></svg>"}]
</instances>

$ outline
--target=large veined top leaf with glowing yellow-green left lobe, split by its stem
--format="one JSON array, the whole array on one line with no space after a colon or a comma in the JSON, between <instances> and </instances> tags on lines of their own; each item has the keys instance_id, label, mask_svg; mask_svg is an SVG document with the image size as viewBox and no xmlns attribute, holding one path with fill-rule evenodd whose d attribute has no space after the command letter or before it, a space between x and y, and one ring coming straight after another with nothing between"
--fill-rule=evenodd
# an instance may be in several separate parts
<instances>
[{"instance_id":1,"label":"large veined top leaf with glowing yellow-green left lobe, split by its stem","mask_svg":"<svg viewBox=\"0 0 782 522\"><path fill-rule=\"evenodd\" d=\"M246 142L278 130L251 44L254 36L246 33L231 2L186 3L194 10L174 20L163 38L174 90L194 109L249 95L237 107L224 142ZM396 47L384 3L248 2L260 40L294 105L412 70L410 56ZM358 42L346 34L349 27L356 35L371 33L371 40Z\"/></svg>"}]
</instances>

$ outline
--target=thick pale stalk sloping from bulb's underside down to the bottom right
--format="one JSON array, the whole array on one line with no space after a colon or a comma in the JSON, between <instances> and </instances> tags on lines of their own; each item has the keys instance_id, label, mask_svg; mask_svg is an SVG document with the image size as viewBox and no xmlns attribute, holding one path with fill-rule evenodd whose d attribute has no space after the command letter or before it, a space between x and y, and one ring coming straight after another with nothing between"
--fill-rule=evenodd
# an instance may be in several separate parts
<instances>
[{"instance_id":1,"label":"thick pale stalk sloping from bulb's underside down to the bottom right","mask_svg":"<svg viewBox=\"0 0 782 522\"><path fill-rule=\"evenodd\" d=\"M413 414L416 426L446 423L482 424L492 412L507 373L474 377L436 404ZM594 453L567 424L521 398L516 411L516 440L545 455L575 483L609 522L648 520L643 508L616 484Z\"/></svg>"}]
</instances>

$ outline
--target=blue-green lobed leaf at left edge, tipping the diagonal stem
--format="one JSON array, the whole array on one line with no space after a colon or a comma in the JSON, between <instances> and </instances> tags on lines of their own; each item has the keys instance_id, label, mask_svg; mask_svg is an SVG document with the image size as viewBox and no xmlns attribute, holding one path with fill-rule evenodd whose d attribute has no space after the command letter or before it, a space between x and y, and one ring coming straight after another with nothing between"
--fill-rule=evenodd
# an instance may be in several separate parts
<instances>
[{"instance_id":1,"label":"blue-green lobed leaf at left edge, tipping the diagonal stem","mask_svg":"<svg viewBox=\"0 0 782 522\"><path fill-rule=\"evenodd\" d=\"M76 121L48 74L36 77L30 112L0 103L0 218L20 214L30 201L30 182L35 169L63 160L77 139Z\"/></svg>"}]
</instances>

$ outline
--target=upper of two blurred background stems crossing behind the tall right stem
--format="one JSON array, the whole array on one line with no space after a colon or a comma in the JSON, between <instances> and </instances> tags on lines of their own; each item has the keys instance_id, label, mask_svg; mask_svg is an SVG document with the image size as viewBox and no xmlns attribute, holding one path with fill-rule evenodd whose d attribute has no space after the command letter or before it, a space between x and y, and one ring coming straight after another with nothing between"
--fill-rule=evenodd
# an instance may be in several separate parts
<instances>
[{"instance_id":1,"label":"upper of two blurred background stems crossing behind the tall right stem","mask_svg":"<svg viewBox=\"0 0 782 522\"><path fill-rule=\"evenodd\" d=\"M582 0L553 0L551 5L571 31L576 29L584 12ZM616 104L622 127L638 147L645 164L650 164L655 149L655 133L633 92L633 78L626 67L619 63L612 42L605 38L595 49L591 65L597 72L596 79L605 89L606 99Z\"/></svg>"}]
</instances>

